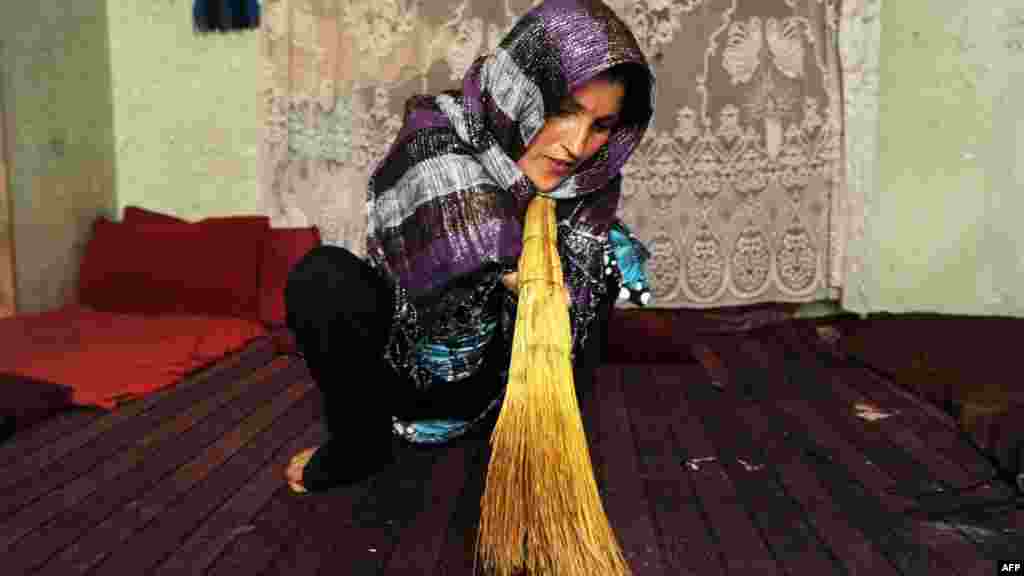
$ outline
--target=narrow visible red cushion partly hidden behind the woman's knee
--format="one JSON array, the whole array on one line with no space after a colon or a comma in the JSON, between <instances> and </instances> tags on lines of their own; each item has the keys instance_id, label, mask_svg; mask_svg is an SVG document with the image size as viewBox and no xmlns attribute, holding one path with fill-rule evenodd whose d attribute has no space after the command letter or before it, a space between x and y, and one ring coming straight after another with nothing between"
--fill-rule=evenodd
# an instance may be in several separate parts
<instances>
[{"instance_id":1,"label":"narrow visible red cushion partly hidden behind the woman's knee","mask_svg":"<svg viewBox=\"0 0 1024 576\"><path fill-rule=\"evenodd\" d=\"M260 320L268 326L285 325L285 285L292 268L321 244L315 227L270 229L260 280Z\"/></svg>"}]
</instances>

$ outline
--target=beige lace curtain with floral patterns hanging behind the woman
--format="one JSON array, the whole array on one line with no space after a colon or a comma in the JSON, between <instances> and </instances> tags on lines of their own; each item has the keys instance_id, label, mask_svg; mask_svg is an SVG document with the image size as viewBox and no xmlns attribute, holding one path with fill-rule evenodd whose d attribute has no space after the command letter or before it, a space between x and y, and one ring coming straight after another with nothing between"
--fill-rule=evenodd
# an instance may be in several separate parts
<instances>
[{"instance_id":1,"label":"beige lace curtain with floral patterns hanging behind the woman","mask_svg":"<svg viewBox=\"0 0 1024 576\"><path fill-rule=\"evenodd\" d=\"M607 2L658 79L620 207L651 249L653 306L839 295L862 219L845 177L839 37L865 1ZM274 225L316 225L364 254L367 180L406 98L457 86L538 3L266 0L260 165ZM863 46L844 49L863 59Z\"/></svg>"}]
</instances>

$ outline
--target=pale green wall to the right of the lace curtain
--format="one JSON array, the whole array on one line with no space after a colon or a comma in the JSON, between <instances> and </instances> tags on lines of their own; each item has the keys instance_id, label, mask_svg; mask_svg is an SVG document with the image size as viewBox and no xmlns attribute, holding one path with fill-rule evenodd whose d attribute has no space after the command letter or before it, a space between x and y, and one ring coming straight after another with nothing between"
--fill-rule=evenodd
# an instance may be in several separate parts
<instances>
[{"instance_id":1,"label":"pale green wall to the right of the lace curtain","mask_svg":"<svg viewBox=\"0 0 1024 576\"><path fill-rule=\"evenodd\" d=\"M886 1L874 310L1024 316L1024 11Z\"/></svg>"}]
</instances>

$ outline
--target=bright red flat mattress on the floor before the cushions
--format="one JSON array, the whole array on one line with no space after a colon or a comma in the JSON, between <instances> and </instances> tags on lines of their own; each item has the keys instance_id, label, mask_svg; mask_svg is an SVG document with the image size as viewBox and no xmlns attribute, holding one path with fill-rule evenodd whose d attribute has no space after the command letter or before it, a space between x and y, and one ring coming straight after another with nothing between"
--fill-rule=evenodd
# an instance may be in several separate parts
<instances>
[{"instance_id":1,"label":"bright red flat mattress on the floor before the cushions","mask_svg":"<svg viewBox=\"0 0 1024 576\"><path fill-rule=\"evenodd\" d=\"M140 316L67 306L0 319L0 374L70 389L71 402L113 408L266 335L237 318Z\"/></svg>"}]
</instances>

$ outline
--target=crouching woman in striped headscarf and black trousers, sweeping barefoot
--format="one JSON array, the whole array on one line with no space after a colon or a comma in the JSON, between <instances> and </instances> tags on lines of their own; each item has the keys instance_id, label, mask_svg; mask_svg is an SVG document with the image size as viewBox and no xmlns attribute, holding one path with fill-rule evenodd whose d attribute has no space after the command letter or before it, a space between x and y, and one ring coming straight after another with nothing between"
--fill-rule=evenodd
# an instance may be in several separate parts
<instances>
[{"instance_id":1,"label":"crouching woman in striped headscarf and black trousers, sweeping barefoot","mask_svg":"<svg viewBox=\"0 0 1024 576\"><path fill-rule=\"evenodd\" d=\"M620 169L652 111L632 33L586 0L534 8L460 91L407 102L370 180L368 260L317 248L286 288L329 435L293 458L294 490L367 478L391 461L392 435L446 442L500 406L523 216L538 194L558 201L573 366L593 368L617 281L605 264Z\"/></svg>"}]
</instances>

